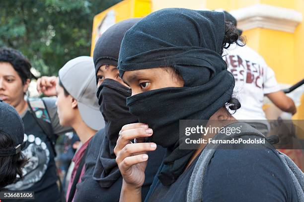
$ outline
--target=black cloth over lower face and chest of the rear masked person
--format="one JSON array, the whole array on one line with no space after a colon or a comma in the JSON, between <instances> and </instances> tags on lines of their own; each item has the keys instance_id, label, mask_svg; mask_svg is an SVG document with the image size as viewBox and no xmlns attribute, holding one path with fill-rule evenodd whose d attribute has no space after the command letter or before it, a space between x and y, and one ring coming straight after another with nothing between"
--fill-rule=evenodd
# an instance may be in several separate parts
<instances>
[{"instance_id":1,"label":"black cloth over lower face and chest of the rear masked person","mask_svg":"<svg viewBox=\"0 0 304 202\"><path fill-rule=\"evenodd\" d=\"M119 131L126 124L138 122L126 106L126 98L131 96L128 90L128 87L113 79L105 79L97 90L100 112L105 121L106 136L100 148L93 179L101 187L111 187L121 176L114 154Z\"/></svg>"}]
</instances>

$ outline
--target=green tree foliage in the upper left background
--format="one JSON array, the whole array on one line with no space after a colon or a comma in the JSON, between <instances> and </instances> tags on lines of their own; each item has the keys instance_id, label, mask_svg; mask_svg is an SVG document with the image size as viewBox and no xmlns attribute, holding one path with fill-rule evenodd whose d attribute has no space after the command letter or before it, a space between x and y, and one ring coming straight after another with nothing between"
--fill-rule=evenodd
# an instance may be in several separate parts
<instances>
[{"instance_id":1,"label":"green tree foliage in the upper left background","mask_svg":"<svg viewBox=\"0 0 304 202\"><path fill-rule=\"evenodd\" d=\"M20 50L42 75L89 56L93 17L120 0L1 0L0 46Z\"/></svg>"}]
</instances>

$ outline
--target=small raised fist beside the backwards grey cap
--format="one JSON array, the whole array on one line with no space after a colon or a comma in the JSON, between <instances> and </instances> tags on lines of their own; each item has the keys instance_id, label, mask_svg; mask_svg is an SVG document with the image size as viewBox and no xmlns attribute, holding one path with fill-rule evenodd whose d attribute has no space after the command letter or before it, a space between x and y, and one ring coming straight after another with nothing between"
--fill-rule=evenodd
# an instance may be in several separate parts
<instances>
[{"instance_id":1,"label":"small raised fist beside the backwards grey cap","mask_svg":"<svg viewBox=\"0 0 304 202\"><path fill-rule=\"evenodd\" d=\"M37 91L45 96L56 96L56 76L42 76L37 80Z\"/></svg>"}]
</instances>

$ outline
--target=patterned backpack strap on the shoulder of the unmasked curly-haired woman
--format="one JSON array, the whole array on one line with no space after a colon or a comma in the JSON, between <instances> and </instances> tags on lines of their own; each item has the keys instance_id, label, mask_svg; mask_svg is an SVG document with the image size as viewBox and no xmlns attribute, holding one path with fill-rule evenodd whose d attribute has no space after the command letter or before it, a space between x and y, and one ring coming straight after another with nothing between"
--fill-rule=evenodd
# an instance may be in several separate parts
<instances>
[{"instance_id":1,"label":"patterned backpack strap on the shoulder of the unmasked curly-haired woman","mask_svg":"<svg viewBox=\"0 0 304 202\"><path fill-rule=\"evenodd\" d=\"M36 120L38 126L42 129L42 131L47 135L49 141L51 142L52 150L54 152L54 156L56 157L57 153L55 150L55 144L56 144L56 139L57 135L54 134L52 123L50 120L50 115L49 112L46 108L46 105L43 101L43 99L27 99L27 104L29 108L29 112L32 114L34 119ZM45 112L46 114L45 117L37 117L37 114L40 114Z\"/></svg>"}]
</instances>

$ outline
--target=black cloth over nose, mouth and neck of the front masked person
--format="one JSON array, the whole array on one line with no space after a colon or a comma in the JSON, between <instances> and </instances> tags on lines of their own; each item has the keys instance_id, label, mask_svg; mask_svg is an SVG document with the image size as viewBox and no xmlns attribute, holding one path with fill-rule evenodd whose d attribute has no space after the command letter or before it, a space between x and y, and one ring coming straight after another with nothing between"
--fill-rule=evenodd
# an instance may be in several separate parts
<instances>
[{"instance_id":1,"label":"black cloth over nose, mouth and neck of the front masked person","mask_svg":"<svg viewBox=\"0 0 304 202\"><path fill-rule=\"evenodd\" d=\"M127 98L130 113L153 129L150 141L167 148L158 175L163 185L175 182L194 151L178 149L179 120L208 120L231 98L232 81L231 74L221 72L202 86L161 88Z\"/></svg>"}]
</instances>

